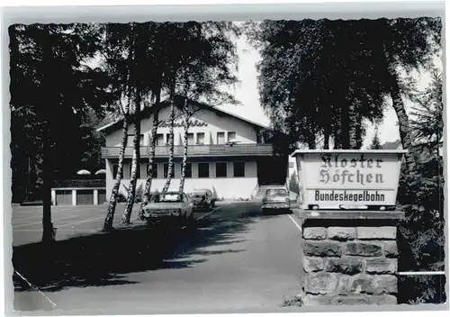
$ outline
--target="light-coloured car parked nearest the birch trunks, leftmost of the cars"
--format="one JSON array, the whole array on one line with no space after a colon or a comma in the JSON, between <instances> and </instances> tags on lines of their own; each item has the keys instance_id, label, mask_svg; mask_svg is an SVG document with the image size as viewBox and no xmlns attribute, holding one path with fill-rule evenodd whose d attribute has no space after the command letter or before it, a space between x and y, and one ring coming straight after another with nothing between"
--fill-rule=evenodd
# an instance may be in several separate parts
<instances>
[{"instance_id":1,"label":"light-coloured car parked nearest the birch trunks, leftmost of the cars","mask_svg":"<svg viewBox=\"0 0 450 317\"><path fill-rule=\"evenodd\" d=\"M185 222L193 219L193 204L184 193L154 193L142 208L141 217L149 223L167 219Z\"/></svg>"}]
</instances>

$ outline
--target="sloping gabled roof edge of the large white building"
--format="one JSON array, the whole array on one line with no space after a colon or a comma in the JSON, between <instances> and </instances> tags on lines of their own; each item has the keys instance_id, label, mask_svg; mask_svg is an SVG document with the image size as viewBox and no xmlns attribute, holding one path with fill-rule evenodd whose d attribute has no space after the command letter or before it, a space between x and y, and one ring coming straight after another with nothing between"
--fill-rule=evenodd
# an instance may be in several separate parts
<instances>
[{"instance_id":1,"label":"sloping gabled roof edge of the large white building","mask_svg":"<svg viewBox=\"0 0 450 317\"><path fill-rule=\"evenodd\" d=\"M180 100L183 97L182 96L176 96L175 98L178 98L178 100ZM270 127L268 127L268 126L266 126L264 124L253 122L251 120L248 120L246 118L238 116L237 114L229 113L229 112L224 111L222 109L219 109L217 107L210 106L208 104L199 103L199 102L196 102L196 101L193 101L193 100L189 100L189 103L193 104L194 106L198 106L200 108L203 108L203 109L208 109L211 112L214 112L214 113L216 113L216 114L218 114L220 116L229 116L229 117L238 119L239 121L246 122L246 123L248 123L250 125L253 125L253 126L257 127L257 128L270 130ZM178 107L181 107L181 106L179 106L179 104L181 104L181 103L176 103L176 105ZM153 113L156 109L162 109L162 108L165 108L168 105L169 105L169 100L166 99L163 102L161 102L160 104L154 104L154 105L152 105L150 107L144 108L142 110L142 112L141 112L141 118L148 118L151 115L151 113ZM122 122L123 122L123 118L121 118L119 120L116 120L115 122L111 122L111 123L105 124L105 125L103 125L103 127L97 129L97 131L103 131L105 133L111 133L112 131L119 130L121 128Z\"/></svg>"}]
</instances>

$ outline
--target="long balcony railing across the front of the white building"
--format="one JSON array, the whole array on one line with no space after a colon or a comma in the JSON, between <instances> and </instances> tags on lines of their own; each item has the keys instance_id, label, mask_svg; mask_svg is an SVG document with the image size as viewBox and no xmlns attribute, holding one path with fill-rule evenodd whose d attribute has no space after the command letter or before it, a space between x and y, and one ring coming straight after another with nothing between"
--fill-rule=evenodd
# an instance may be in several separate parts
<instances>
[{"instance_id":1,"label":"long balcony railing across the front of the white building","mask_svg":"<svg viewBox=\"0 0 450 317\"><path fill-rule=\"evenodd\" d=\"M103 159L118 159L119 147L102 148ZM183 145L175 145L174 157L182 158L184 152ZM146 158L150 153L150 147L140 147L140 157ZM133 148L125 148L125 158L132 158ZM234 145L189 145L187 156L190 158L220 158L220 157L271 157L273 148L271 144L234 144ZM168 146L157 146L155 149L156 158L167 158L169 156Z\"/></svg>"}]
</instances>

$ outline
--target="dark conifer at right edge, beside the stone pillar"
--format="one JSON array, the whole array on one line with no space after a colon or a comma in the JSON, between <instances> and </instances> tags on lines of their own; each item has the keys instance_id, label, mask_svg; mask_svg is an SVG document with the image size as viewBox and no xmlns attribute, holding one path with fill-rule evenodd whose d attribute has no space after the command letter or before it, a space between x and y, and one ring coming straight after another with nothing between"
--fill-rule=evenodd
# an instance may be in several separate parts
<instances>
[{"instance_id":1,"label":"dark conifer at right edge, beside the stone pillar","mask_svg":"<svg viewBox=\"0 0 450 317\"><path fill-rule=\"evenodd\" d=\"M432 73L431 85L416 94L411 116L417 161L407 180L402 170L399 203L406 213L401 232L410 250L412 267L443 270L445 258L444 175L441 155L443 124L442 76Z\"/></svg>"}]
</instances>

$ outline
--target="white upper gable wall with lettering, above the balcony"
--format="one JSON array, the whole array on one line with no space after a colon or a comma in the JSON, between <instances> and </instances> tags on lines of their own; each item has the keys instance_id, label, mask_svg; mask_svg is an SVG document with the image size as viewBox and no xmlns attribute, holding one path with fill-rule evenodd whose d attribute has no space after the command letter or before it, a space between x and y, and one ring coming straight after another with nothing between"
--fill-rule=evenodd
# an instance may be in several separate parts
<instances>
[{"instance_id":1,"label":"white upper gable wall with lettering, above the balcony","mask_svg":"<svg viewBox=\"0 0 450 317\"><path fill-rule=\"evenodd\" d=\"M163 108L159 113L159 120L168 121L170 108ZM179 114L179 113L177 113ZM197 140L198 132L204 132L204 144L217 144L217 132L225 132L225 141L228 140L228 132L235 132L237 140L240 143L257 143L257 131L255 127L247 122L243 122L229 115L218 115L217 113L204 109L199 113L195 113L193 121L208 123L207 126L191 127L189 133L194 133L194 143ZM183 119L177 119L175 122L183 122ZM144 135L143 145L150 144L150 134L153 123L153 114L149 118L141 121L141 134ZM134 124L129 126L129 134L133 134ZM165 136L169 133L169 127L159 127L157 133L163 133ZM182 145L184 138L184 127L175 127L175 145ZM165 137L166 138L166 137ZM166 139L165 139L166 141ZM106 147L115 147L121 144L121 129L112 131L106 138ZM130 146L130 145L128 145Z\"/></svg>"}]
</instances>

